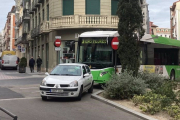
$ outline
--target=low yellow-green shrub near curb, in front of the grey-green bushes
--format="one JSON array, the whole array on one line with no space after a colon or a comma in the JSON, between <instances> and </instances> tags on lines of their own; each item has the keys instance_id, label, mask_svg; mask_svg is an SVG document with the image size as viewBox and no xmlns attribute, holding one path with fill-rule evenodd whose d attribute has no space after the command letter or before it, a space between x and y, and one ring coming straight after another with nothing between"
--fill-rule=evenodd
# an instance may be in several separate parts
<instances>
[{"instance_id":1,"label":"low yellow-green shrub near curb, in front of the grey-green bushes","mask_svg":"<svg viewBox=\"0 0 180 120\"><path fill-rule=\"evenodd\" d=\"M160 112L163 108L170 106L173 102L165 95L155 94L153 92L148 92L141 96L136 95L132 100L135 105L140 104L140 109L143 112L147 112L152 115Z\"/></svg>"}]
</instances>

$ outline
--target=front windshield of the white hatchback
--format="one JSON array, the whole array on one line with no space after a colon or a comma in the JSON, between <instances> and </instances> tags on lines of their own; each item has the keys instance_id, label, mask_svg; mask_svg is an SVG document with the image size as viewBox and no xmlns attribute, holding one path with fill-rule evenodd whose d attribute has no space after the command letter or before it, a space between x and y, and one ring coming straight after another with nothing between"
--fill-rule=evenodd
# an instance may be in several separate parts
<instances>
[{"instance_id":1,"label":"front windshield of the white hatchback","mask_svg":"<svg viewBox=\"0 0 180 120\"><path fill-rule=\"evenodd\" d=\"M50 75L61 76L81 76L81 66L78 65L58 65Z\"/></svg>"}]
</instances>

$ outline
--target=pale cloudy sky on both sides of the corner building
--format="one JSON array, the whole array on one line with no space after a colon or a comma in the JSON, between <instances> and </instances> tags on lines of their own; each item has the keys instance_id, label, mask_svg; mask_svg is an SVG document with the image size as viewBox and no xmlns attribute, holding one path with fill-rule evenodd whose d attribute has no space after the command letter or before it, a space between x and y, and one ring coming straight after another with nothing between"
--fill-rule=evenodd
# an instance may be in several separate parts
<instances>
[{"instance_id":1,"label":"pale cloudy sky on both sides of the corner building","mask_svg":"<svg viewBox=\"0 0 180 120\"><path fill-rule=\"evenodd\" d=\"M170 6L177 0L146 0L150 21L161 28L170 28ZM7 14L15 5L14 0L0 0L0 30L5 26Z\"/></svg>"}]
</instances>

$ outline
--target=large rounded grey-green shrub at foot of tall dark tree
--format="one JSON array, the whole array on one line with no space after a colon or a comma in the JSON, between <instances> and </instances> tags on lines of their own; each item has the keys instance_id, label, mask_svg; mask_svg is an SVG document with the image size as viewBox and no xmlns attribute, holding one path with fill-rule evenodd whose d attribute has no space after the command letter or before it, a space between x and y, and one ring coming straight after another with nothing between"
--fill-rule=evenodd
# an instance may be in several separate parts
<instances>
[{"instance_id":1,"label":"large rounded grey-green shrub at foot of tall dark tree","mask_svg":"<svg viewBox=\"0 0 180 120\"><path fill-rule=\"evenodd\" d=\"M104 96L110 99L129 99L135 94L144 94L146 84L144 80L133 77L132 72L124 71L119 76L112 75L104 88Z\"/></svg>"}]
</instances>

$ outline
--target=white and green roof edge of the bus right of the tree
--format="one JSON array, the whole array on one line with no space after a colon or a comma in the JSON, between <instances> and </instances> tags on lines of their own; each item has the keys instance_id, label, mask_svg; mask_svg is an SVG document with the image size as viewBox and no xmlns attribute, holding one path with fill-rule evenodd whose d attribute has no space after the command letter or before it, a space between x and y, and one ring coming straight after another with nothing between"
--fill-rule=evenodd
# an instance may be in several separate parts
<instances>
[{"instance_id":1,"label":"white and green roof edge of the bus right of the tree","mask_svg":"<svg viewBox=\"0 0 180 120\"><path fill-rule=\"evenodd\" d=\"M140 41L180 47L179 40L150 35L150 34L145 34Z\"/></svg>"}]
</instances>

